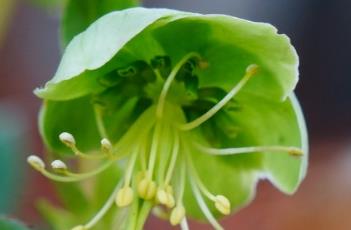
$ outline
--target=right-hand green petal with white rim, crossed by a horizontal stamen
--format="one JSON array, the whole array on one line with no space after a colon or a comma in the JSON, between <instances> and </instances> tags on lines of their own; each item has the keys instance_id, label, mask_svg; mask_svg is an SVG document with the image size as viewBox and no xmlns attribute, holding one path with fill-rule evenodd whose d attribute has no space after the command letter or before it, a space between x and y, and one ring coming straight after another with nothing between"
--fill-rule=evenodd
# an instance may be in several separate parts
<instances>
[{"instance_id":1,"label":"right-hand green petal with white rim, crossed by a horizontal stamen","mask_svg":"<svg viewBox=\"0 0 351 230\"><path fill-rule=\"evenodd\" d=\"M234 146L296 146L304 151L301 158L287 153L263 153L261 178L271 180L285 193L293 193L306 173L308 149L307 135L301 110L294 96L284 102L272 102L256 95L240 94L237 111L230 112L235 127L239 127L238 138L248 137L246 143L233 139L225 143Z\"/></svg>"}]
</instances>

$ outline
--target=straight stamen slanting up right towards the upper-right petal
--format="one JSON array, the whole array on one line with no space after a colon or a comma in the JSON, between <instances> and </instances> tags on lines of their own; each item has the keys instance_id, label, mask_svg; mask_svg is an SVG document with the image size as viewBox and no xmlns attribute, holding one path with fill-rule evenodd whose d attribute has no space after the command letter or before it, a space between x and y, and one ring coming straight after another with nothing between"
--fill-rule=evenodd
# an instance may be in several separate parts
<instances>
[{"instance_id":1,"label":"straight stamen slanting up right towards the upper-right petal","mask_svg":"<svg viewBox=\"0 0 351 230\"><path fill-rule=\"evenodd\" d=\"M221 101L219 101L215 106L213 106L210 110L208 110L200 117L196 118L191 122L181 125L180 129L184 131L191 130L200 126L202 123L210 119L220 109L222 109L245 86L248 80L257 73L257 70L258 70L257 65L255 64L249 65L246 68L246 73L244 77L239 81L239 83L236 86L234 86L234 88Z\"/></svg>"}]
</instances>

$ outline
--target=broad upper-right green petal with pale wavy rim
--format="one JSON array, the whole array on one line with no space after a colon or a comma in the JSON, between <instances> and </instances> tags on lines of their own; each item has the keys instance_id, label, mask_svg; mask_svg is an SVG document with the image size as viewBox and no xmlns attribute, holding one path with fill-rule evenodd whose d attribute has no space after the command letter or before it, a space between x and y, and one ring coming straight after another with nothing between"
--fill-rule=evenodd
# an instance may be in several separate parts
<instances>
[{"instance_id":1,"label":"broad upper-right green petal with pale wavy rim","mask_svg":"<svg viewBox=\"0 0 351 230\"><path fill-rule=\"evenodd\" d=\"M195 51L208 62L207 69L196 73L200 87L228 91L250 64L260 69L244 91L283 100L298 81L296 51L289 38L277 34L270 24L224 15L196 15L159 27L154 36L175 60Z\"/></svg>"}]
</instances>

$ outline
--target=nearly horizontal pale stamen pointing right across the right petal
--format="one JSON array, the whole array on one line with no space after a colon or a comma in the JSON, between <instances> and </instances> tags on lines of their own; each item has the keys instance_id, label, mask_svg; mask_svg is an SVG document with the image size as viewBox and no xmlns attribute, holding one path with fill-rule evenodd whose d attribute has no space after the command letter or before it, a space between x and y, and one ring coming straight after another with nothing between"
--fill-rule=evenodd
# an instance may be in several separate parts
<instances>
[{"instance_id":1,"label":"nearly horizontal pale stamen pointing right across the right petal","mask_svg":"<svg viewBox=\"0 0 351 230\"><path fill-rule=\"evenodd\" d=\"M277 152L277 153L288 153L292 156L302 156L303 152L297 147L291 146L251 146L251 147L239 147L239 148L209 148L204 147L200 144L195 144L195 147L202 152L212 155L235 155L241 153L257 153L257 152Z\"/></svg>"}]
</instances>

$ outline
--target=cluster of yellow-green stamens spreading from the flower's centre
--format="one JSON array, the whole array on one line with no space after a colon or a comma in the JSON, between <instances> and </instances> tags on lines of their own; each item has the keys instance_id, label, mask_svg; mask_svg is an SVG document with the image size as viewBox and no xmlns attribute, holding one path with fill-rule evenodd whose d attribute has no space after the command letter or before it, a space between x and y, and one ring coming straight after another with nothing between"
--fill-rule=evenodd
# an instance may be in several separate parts
<instances>
[{"instance_id":1,"label":"cluster of yellow-green stamens spreading from the flower's centre","mask_svg":"<svg viewBox=\"0 0 351 230\"><path fill-rule=\"evenodd\" d=\"M200 132L197 132L196 128L211 119L231 101L251 77L256 74L258 66L255 64L249 65L243 71L244 74L239 83L217 104L198 118L187 121L182 104L177 104L174 95L172 98L172 87L177 87L176 77L187 65L190 66L190 69L201 69L206 66L204 64L206 62L197 53L189 53L176 63L173 69L169 71L168 76L165 77L162 74L162 67L166 65L166 62L167 59L163 58L154 60L153 71L156 80L153 84L149 84L146 89L149 95L157 95L154 96L154 103L139 116L117 143L112 144L107 139L106 128L99 110L96 110L97 125L101 136L104 137L101 140L100 153L95 155L84 154L76 147L73 135L62 133L59 136L60 140L71 148L77 157L102 161L100 167L88 173L78 174L70 172L62 161L56 160L52 162L52 168L55 171L55 173L52 173L45 169L45 164L40 158L36 156L28 158L28 162L36 170L50 179L61 182L73 182L89 178L115 165L114 162L117 160L126 159L124 176L117 183L105 205L87 224L79 225L74 228L75 230L90 229L95 226L114 202L120 208L130 207L131 217L128 225L132 226L131 229L141 229L138 224L142 225L150 209L158 206L164 207L164 209L157 209L159 215L167 216L172 225L181 224L186 229L186 209L183 203L186 179L189 180L194 197L205 217L215 229L222 229L204 201L204 197L212 201L213 206L224 215L228 215L231 211L230 202L222 194L213 194L211 189L203 183L201 175L197 173L193 163L192 151L196 150L200 153L219 156L250 152L279 152L294 156L302 155L299 148L290 146L249 146L216 149L199 144L195 134L198 135ZM133 68L119 70L119 72L119 74L126 76L135 73ZM183 81L185 82L185 79ZM158 94L155 94L155 92L158 92ZM174 92L179 93L179 89Z\"/></svg>"}]
</instances>

